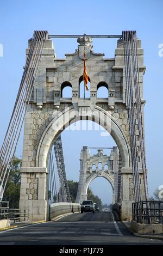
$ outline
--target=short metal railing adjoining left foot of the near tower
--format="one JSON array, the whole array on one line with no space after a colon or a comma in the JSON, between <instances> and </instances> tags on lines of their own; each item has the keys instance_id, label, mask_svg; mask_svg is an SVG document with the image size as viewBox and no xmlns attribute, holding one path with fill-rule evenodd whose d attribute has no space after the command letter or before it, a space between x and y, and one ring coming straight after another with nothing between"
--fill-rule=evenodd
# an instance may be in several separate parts
<instances>
[{"instance_id":1,"label":"short metal railing adjoining left foot of the near tower","mask_svg":"<svg viewBox=\"0 0 163 256\"><path fill-rule=\"evenodd\" d=\"M9 219L14 222L29 221L29 210L9 209Z\"/></svg>"}]
</instances>

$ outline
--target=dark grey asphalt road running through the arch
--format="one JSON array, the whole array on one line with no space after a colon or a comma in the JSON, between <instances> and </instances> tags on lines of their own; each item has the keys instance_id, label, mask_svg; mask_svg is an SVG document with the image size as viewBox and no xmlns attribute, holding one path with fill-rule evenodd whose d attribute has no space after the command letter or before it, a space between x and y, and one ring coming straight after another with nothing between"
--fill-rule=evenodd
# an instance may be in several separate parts
<instances>
[{"instance_id":1,"label":"dark grey asphalt road running through the arch","mask_svg":"<svg viewBox=\"0 0 163 256\"><path fill-rule=\"evenodd\" d=\"M1 245L163 245L163 241L135 237L114 221L111 212L87 212L1 231Z\"/></svg>"}]
</instances>

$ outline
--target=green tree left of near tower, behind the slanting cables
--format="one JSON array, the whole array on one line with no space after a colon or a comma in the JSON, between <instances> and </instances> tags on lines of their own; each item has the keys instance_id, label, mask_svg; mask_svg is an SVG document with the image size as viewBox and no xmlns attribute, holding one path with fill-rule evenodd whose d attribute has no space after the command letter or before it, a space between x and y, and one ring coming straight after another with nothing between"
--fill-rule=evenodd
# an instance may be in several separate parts
<instances>
[{"instance_id":1,"label":"green tree left of near tower, behind the slanting cables","mask_svg":"<svg viewBox=\"0 0 163 256\"><path fill-rule=\"evenodd\" d=\"M21 174L20 168L22 165L22 160L18 157L14 157L7 185L3 194L3 201L9 201L10 208L18 208L20 199L20 184L21 184Z\"/></svg>"}]
</instances>

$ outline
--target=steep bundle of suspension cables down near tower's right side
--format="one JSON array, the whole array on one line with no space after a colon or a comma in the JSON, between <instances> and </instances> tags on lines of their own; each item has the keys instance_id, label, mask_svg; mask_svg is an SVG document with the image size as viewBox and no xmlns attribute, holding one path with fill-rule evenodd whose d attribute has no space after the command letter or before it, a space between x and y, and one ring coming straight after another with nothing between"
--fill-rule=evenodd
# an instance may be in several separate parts
<instances>
[{"instance_id":1,"label":"steep bundle of suspension cables down near tower's right side","mask_svg":"<svg viewBox=\"0 0 163 256\"><path fill-rule=\"evenodd\" d=\"M145 159L145 141L142 122L142 108L140 96L140 80L139 80L139 64L137 54L136 31L123 31L124 46L124 66L126 74L126 93L127 108L129 117L129 135L131 145L131 160L133 165L133 182L135 191L135 200L140 202L140 178L139 178L139 159L137 150L137 142L140 145L141 162L143 170L143 181L145 186L145 198L148 198L147 189L147 169ZM136 136L136 117L139 136Z\"/></svg>"}]
</instances>

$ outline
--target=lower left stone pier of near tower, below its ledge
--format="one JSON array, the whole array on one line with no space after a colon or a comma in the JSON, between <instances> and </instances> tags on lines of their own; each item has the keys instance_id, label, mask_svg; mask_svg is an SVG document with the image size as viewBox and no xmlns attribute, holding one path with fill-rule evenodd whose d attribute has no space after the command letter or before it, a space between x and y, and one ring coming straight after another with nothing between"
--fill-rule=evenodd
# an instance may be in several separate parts
<instances>
[{"instance_id":1,"label":"lower left stone pier of near tower, below its ledge","mask_svg":"<svg viewBox=\"0 0 163 256\"><path fill-rule=\"evenodd\" d=\"M47 182L47 168L21 168L20 209L29 209L32 221L48 218Z\"/></svg>"}]
</instances>

